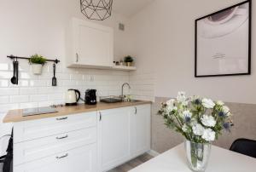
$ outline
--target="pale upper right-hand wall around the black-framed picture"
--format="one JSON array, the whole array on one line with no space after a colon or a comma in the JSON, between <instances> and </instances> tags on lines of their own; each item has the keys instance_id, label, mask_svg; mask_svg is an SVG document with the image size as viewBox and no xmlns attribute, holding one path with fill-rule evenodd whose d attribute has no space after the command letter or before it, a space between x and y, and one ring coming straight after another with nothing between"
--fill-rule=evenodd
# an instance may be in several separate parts
<instances>
[{"instance_id":1,"label":"pale upper right-hand wall around the black-framed picture","mask_svg":"<svg viewBox=\"0 0 256 172\"><path fill-rule=\"evenodd\" d=\"M147 72L154 76L155 96L174 97L177 91L184 90L189 95L203 95L214 100L256 103L254 49L250 76L194 77L195 19L240 2L156 0L129 21L139 69L137 74ZM255 9L253 2L253 16ZM255 21L253 17L253 28ZM252 46L255 36L253 32Z\"/></svg>"}]
</instances>

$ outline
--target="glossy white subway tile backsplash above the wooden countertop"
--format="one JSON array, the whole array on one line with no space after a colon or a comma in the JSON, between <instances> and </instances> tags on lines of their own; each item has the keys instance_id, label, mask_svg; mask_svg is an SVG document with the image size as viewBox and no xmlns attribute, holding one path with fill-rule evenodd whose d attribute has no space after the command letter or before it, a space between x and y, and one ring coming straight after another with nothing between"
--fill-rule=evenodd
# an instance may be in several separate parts
<instances>
[{"instance_id":1,"label":"glossy white subway tile backsplash above the wooden countertop","mask_svg":"<svg viewBox=\"0 0 256 172\"><path fill-rule=\"evenodd\" d=\"M0 108L27 108L65 103L67 89L79 89L82 97L86 89L97 89L98 96L120 95L123 83L125 94L142 100L154 99L154 77L150 73L119 72L95 69L68 69L56 66L57 87L51 86L52 65L44 66L42 75L32 74L31 67L20 63L19 85L9 82L12 64L0 63Z\"/></svg>"}]
</instances>

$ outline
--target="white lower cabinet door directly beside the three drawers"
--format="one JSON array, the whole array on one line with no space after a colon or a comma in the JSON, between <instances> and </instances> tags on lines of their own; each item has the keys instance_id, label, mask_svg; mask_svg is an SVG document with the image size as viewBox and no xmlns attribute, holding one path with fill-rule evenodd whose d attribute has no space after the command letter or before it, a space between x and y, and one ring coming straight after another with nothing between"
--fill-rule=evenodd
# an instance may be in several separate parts
<instances>
[{"instance_id":1,"label":"white lower cabinet door directly beside the three drawers","mask_svg":"<svg viewBox=\"0 0 256 172\"><path fill-rule=\"evenodd\" d=\"M130 108L99 112L99 170L107 171L130 158Z\"/></svg>"}]
</instances>

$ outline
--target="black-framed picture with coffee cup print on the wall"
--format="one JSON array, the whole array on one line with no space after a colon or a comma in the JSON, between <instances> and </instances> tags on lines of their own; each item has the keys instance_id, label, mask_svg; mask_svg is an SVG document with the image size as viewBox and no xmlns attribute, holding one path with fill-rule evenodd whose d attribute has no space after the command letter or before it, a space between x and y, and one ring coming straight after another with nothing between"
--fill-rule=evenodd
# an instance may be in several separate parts
<instances>
[{"instance_id":1,"label":"black-framed picture with coffee cup print on the wall","mask_svg":"<svg viewBox=\"0 0 256 172\"><path fill-rule=\"evenodd\" d=\"M251 74L251 0L195 20L195 77Z\"/></svg>"}]
</instances>

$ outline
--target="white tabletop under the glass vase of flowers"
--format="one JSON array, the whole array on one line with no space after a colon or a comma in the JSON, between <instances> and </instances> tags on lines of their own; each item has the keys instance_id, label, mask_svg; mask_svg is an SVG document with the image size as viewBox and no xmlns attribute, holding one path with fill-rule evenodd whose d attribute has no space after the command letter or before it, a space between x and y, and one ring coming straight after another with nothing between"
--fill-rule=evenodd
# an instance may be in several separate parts
<instances>
[{"instance_id":1,"label":"white tabletop under the glass vase of flowers","mask_svg":"<svg viewBox=\"0 0 256 172\"><path fill-rule=\"evenodd\" d=\"M130 172L191 172L185 157L184 145L150 159ZM206 172L256 172L256 158L212 146Z\"/></svg>"}]
</instances>

